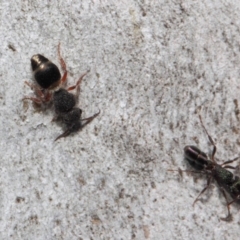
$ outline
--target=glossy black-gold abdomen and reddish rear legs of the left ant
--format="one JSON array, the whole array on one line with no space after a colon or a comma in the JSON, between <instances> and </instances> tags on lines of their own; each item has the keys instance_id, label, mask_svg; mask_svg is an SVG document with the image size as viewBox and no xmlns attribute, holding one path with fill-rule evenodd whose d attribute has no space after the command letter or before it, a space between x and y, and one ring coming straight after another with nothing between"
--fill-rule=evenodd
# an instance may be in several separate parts
<instances>
[{"instance_id":1,"label":"glossy black-gold abdomen and reddish rear legs of the left ant","mask_svg":"<svg viewBox=\"0 0 240 240\"><path fill-rule=\"evenodd\" d=\"M58 67L50 60L41 54L32 56L31 66L36 84L31 84L27 81L25 83L34 89L36 97L24 97L23 99L30 99L37 104L48 103L52 100L52 91L65 83L67 79L67 69L65 61L60 54L60 44L58 45L58 57L64 72L62 77Z\"/></svg>"}]
</instances>

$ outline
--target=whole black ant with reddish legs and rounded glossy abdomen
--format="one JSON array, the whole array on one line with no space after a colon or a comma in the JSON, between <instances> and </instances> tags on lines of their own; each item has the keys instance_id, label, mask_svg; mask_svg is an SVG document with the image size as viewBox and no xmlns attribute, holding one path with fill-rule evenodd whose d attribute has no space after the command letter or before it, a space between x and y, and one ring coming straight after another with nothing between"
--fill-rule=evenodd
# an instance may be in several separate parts
<instances>
[{"instance_id":1,"label":"whole black ant with reddish legs and rounded glossy abdomen","mask_svg":"<svg viewBox=\"0 0 240 240\"><path fill-rule=\"evenodd\" d=\"M77 96L69 93L69 91L77 88L79 92L79 85L87 73L84 73L74 86L68 87L67 89L61 87L66 82L67 70L65 61L60 54L60 44L58 45L58 56L64 71L62 77L58 67L44 56L36 54L31 58L31 66L37 84L25 83L35 90L37 97L24 97L24 99L30 99L37 104L53 102L57 115L54 120L61 120L67 128L55 141L80 130L100 113L99 111L91 117L81 119L82 110L75 107ZM83 121L86 122L83 123Z\"/></svg>"}]
</instances>

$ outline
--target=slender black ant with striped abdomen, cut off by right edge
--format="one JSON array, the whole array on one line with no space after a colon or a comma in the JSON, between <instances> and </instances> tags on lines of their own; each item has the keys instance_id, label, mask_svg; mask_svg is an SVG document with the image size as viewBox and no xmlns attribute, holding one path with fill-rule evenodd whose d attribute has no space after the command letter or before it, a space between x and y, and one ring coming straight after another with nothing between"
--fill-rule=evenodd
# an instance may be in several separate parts
<instances>
[{"instance_id":1,"label":"slender black ant with striped abdomen, cut off by right edge","mask_svg":"<svg viewBox=\"0 0 240 240\"><path fill-rule=\"evenodd\" d=\"M210 186L210 183L214 179L217 182L227 202L228 215L227 217L221 219L224 221L229 221L231 220L230 205L240 199L240 179L239 177L234 176L230 171L228 171L227 168L235 169L235 167L230 166L229 164L236 161L238 157L234 158L233 160L225 161L222 164L217 164L214 158L217 147L212 137L207 132L200 115L199 119L205 133L208 136L210 143L213 145L213 151L209 159L207 154L202 152L196 146L186 146L184 148L185 159L194 169L196 169L196 171L186 170L185 172L204 173L208 177L206 187L199 193L199 195L193 202L193 205L199 200L199 197L207 190L207 188ZM231 202L228 202L226 192L233 198Z\"/></svg>"}]
</instances>

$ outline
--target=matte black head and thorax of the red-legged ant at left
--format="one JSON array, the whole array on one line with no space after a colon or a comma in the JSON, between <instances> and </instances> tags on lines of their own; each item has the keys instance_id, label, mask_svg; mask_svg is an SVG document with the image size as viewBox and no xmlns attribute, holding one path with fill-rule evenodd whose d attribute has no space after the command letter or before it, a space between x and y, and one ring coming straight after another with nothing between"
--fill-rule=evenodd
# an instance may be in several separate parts
<instances>
[{"instance_id":1,"label":"matte black head and thorax of the red-legged ant at left","mask_svg":"<svg viewBox=\"0 0 240 240\"><path fill-rule=\"evenodd\" d=\"M100 113L99 111L91 117L81 119L82 110L75 107L77 103L77 96L74 96L72 93L68 92L69 90L79 86L82 78L85 75L86 73L80 77L75 86L70 87L68 90L60 88L53 94L53 105L56 113L54 120L61 120L61 122L66 126L66 131L59 135L55 141L57 141L59 138L67 137L72 132L77 132L78 130L82 129ZM83 123L84 121L85 123Z\"/></svg>"}]
</instances>

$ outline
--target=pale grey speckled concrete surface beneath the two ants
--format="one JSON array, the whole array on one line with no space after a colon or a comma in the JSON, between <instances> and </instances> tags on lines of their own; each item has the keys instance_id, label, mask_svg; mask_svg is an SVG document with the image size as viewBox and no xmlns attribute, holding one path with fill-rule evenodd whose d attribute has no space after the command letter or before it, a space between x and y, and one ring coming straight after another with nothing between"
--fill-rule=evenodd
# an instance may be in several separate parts
<instances>
[{"instance_id":1,"label":"pale grey speckled concrete surface beneath the two ants","mask_svg":"<svg viewBox=\"0 0 240 240\"><path fill-rule=\"evenodd\" d=\"M0 239L239 239L240 207L188 169L185 145L239 155L240 2L0 3ZM32 55L68 85L89 70L78 106L101 110L67 138L24 81ZM235 165L239 165L236 162Z\"/></svg>"}]
</instances>

